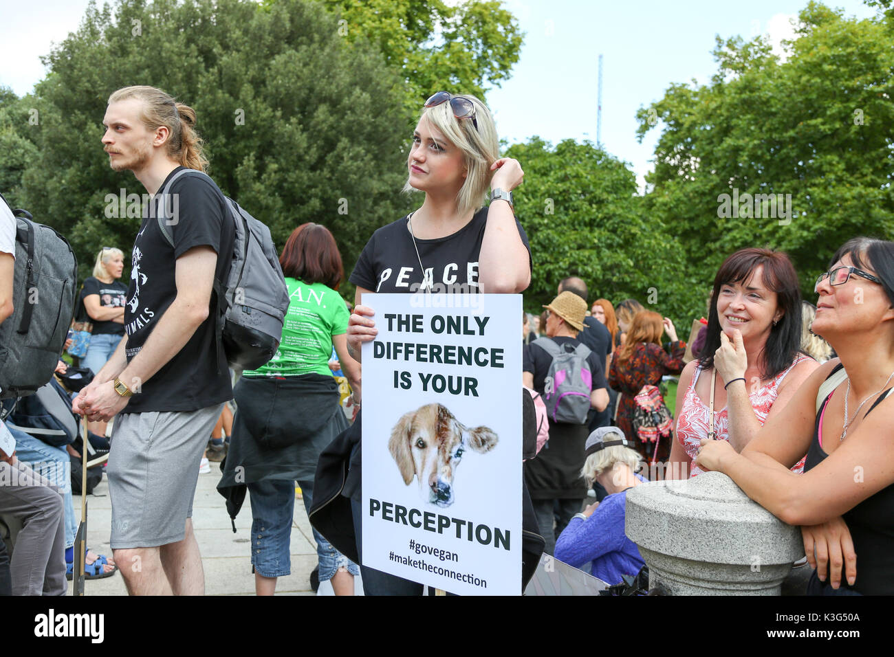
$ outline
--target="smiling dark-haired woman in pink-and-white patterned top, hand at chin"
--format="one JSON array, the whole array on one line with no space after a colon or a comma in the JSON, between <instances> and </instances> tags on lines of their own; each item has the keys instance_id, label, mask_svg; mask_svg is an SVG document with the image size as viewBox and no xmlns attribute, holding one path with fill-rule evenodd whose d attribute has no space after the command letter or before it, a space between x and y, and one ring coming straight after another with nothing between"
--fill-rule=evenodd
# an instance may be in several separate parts
<instances>
[{"instance_id":1,"label":"smiling dark-haired woman in pink-and-white patterned top, hand at chin","mask_svg":"<svg viewBox=\"0 0 894 657\"><path fill-rule=\"evenodd\" d=\"M801 353L801 295L784 253L744 248L714 277L713 304L702 355L679 377L667 478L696 476L693 465L711 426L716 438L742 451L816 369ZM806 450L801 454L803 457ZM803 459L794 464L803 470Z\"/></svg>"}]
</instances>

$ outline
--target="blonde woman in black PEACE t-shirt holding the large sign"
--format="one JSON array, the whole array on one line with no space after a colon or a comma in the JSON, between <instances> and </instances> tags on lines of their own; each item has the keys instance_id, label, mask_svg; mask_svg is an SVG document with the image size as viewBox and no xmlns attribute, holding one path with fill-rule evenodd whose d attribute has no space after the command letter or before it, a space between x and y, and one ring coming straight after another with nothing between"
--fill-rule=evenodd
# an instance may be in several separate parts
<instances>
[{"instance_id":1,"label":"blonde woman in black PEACE t-shirt holding the large sign","mask_svg":"<svg viewBox=\"0 0 894 657\"><path fill-rule=\"evenodd\" d=\"M357 360L360 345L373 340L377 332L373 308L362 303L365 292L514 293L525 290L531 280L527 235L513 214L511 194L524 173L518 161L500 156L493 118L480 100L454 97L446 91L428 98L412 134L407 171L404 191L420 190L425 200L409 215L375 231L350 274L357 293L348 324L348 348ZM334 492L350 497L353 526L334 519L331 513L336 505L324 510L315 505L311 510L311 522L323 535L327 531L356 535L357 552L360 426L358 419L349 432L350 454L332 454L333 477L338 479ZM328 488L320 482L326 458L324 454L317 469L317 491ZM341 458L350 458L346 481L339 469ZM323 496L317 493L315 499ZM367 594L422 592L422 585L362 565L361 573Z\"/></svg>"}]
</instances>

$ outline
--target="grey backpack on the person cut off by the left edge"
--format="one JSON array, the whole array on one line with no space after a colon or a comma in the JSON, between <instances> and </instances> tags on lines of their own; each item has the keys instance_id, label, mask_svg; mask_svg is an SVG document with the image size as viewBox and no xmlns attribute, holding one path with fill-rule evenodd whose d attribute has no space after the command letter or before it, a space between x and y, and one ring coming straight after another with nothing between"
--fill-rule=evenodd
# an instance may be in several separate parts
<instances>
[{"instance_id":1,"label":"grey backpack on the person cut off by the left edge","mask_svg":"<svg viewBox=\"0 0 894 657\"><path fill-rule=\"evenodd\" d=\"M33 394L53 377L72 323L78 275L78 260L62 235L25 210L13 215L13 314L0 324L0 399Z\"/></svg>"}]
</instances>

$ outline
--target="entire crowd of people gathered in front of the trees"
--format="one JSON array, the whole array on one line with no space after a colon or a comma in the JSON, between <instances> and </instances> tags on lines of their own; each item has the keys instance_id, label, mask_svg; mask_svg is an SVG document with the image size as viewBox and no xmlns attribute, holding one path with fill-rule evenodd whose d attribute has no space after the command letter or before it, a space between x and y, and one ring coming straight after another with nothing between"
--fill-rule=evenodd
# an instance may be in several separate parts
<instances>
[{"instance_id":1,"label":"entire crowd of people gathered in front of the trees","mask_svg":"<svg viewBox=\"0 0 894 657\"><path fill-rule=\"evenodd\" d=\"M279 348L235 384L215 314L234 226L211 178L179 175L206 169L195 112L159 89L130 87L109 97L103 122L111 167L132 172L150 195L177 194L179 217L169 234L147 212L129 285L119 281L122 250L103 247L78 295L74 319L88 335L75 350L91 378L72 394L72 412L111 442L114 559L90 552L89 576L139 560L139 569L120 568L131 594L203 594L192 500L199 472L220 461L231 518L249 495L257 594L273 594L291 572L297 495L314 526L317 581L352 594L359 575L366 594L422 594L420 583L363 563L357 409L361 345L377 329L362 296L527 289L536 257L512 198L524 173L500 156L488 108L443 91L426 101L405 186L425 199L369 236L348 277L353 305L339 296L333 234L316 223L295 228L279 254L290 299ZM13 313L18 264L15 218L3 203L0 211L2 322ZM618 584L644 565L624 531L628 491L719 470L802 527L811 593L894 593L894 243L848 241L815 291L816 306L801 299L784 253L743 248L714 276L708 317L687 349L670 318L636 299L591 301L580 278L558 282L543 314L526 313L522 325L521 383L546 423L539 452L521 466L522 518L544 552ZM673 409L662 392L669 378L678 383ZM87 446L53 448L8 420L3 430L14 450L0 450L0 476L9 481L15 469L18 483L0 485L0 516L25 522L12 559L0 541L0 594L63 594L72 491L27 463L86 458Z\"/></svg>"}]
</instances>

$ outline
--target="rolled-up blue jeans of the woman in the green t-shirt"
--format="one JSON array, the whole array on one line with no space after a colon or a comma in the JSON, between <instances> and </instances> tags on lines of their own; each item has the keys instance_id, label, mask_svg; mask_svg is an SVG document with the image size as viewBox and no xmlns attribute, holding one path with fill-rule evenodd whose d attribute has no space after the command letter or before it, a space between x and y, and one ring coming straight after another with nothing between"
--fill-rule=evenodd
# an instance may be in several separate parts
<instances>
[{"instance_id":1,"label":"rolled-up blue jeans of the woman in the green t-shirt","mask_svg":"<svg viewBox=\"0 0 894 657\"><path fill-rule=\"evenodd\" d=\"M313 501L314 482L299 481L305 510ZM251 502L251 565L263 577L284 577L291 572L289 544L295 510L295 483L289 479L264 479L249 484ZM338 552L314 530L321 582L332 579L340 568L357 576L357 564Z\"/></svg>"}]
</instances>

